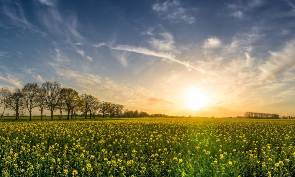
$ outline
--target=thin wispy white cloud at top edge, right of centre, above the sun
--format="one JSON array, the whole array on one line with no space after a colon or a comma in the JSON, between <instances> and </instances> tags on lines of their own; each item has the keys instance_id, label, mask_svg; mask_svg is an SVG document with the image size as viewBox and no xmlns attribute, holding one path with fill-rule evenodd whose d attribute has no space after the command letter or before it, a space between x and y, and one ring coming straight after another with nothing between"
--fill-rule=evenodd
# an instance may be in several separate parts
<instances>
[{"instance_id":1,"label":"thin wispy white cloud at top edge, right of centre, above the sun","mask_svg":"<svg viewBox=\"0 0 295 177\"><path fill-rule=\"evenodd\" d=\"M189 13L189 9L181 6L180 1L165 1L164 3L155 3L152 5L153 11L155 11L159 17L169 19L171 22L186 22L193 24L196 22L196 18Z\"/></svg>"}]
</instances>

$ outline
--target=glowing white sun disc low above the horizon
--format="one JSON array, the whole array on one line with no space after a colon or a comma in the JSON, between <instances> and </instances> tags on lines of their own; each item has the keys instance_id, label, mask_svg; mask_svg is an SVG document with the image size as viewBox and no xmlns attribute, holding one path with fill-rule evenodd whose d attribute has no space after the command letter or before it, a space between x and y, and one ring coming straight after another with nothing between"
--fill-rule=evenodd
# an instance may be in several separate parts
<instances>
[{"instance_id":1,"label":"glowing white sun disc low above the horizon","mask_svg":"<svg viewBox=\"0 0 295 177\"><path fill-rule=\"evenodd\" d=\"M198 91L191 91L186 95L186 106L192 110L200 110L208 103L208 97Z\"/></svg>"}]
</instances>

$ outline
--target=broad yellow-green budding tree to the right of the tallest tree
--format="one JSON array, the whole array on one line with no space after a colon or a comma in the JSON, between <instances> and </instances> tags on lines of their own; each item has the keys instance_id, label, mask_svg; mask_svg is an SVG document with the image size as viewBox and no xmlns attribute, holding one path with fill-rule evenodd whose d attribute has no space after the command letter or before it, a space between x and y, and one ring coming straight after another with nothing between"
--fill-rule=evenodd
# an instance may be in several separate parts
<instances>
[{"instance_id":1,"label":"broad yellow-green budding tree to the right of the tallest tree","mask_svg":"<svg viewBox=\"0 0 295 177\"><path fill-rule=\"evenodd\" d=\"M67 111L67 119L70 119L70 112L73 110L74 103L79 99L79 94L72 88L61 89L61 97L64 101L64 109ZM72 113L73 116L73 113ZM71 117L72 117L71 116Z\"/></svg>"}]
</instances>

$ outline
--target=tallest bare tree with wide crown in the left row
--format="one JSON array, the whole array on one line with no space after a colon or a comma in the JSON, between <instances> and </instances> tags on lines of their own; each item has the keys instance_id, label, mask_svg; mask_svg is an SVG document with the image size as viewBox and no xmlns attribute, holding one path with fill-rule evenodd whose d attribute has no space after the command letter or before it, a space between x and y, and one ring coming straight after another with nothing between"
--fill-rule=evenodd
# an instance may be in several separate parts
<instances>
[{"instance_id":1,"label":"tallest bare tree with wide crown in the left row","mask_svg":"<svg viewBox=\"0 0 295 177\"><path fill-rule=\"evenodd\" d=\"M47 81L42 84L42 90L45 93L45 109L51 112L51 120L53 120L53 112L56 111L58 106L58 94L60 92L60 83L54 81Z\"/></svg>"}]
</instances>

